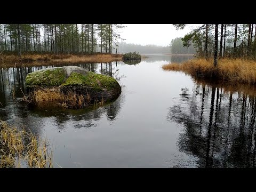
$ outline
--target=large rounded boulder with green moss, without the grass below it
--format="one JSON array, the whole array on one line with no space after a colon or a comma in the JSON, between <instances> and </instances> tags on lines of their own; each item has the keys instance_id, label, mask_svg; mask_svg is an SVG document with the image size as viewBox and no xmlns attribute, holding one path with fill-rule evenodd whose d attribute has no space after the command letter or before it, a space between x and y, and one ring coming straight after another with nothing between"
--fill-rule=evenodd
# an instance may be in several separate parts
<instances>
[{"instance_id":1,"label":"large rounded boulder with green moss, without the grass below it","mask_svg":"<svg viewBox=\"0 0 256 192\"><path fill-rule=\"evenodd\" d=\"M110 76L95 74L77 66L53 67L29 73L28 91L58 87L62 92L89 94L91 98L112 98L121 93L121 86Z\"/></svg>"}]
</instances>

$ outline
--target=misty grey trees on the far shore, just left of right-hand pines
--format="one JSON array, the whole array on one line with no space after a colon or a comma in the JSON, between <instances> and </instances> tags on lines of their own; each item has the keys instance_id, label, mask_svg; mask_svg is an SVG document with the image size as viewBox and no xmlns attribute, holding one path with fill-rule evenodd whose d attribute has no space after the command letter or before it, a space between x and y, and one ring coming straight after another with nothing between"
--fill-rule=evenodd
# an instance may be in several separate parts
<instances>
[{"instance_id":1,"label":"misty grey trees on the far shore, just left of right-hand pines","mask_svg":"<svg viewBox=\"0 0 256 192\"><path fill-rule=\"evenodd\" d=\"M193 43L191 43L188 47L183 46L183 42L182 42L182 38L181 37L177 37L175 39L172 39L171 44L171 53L175 54L195 54L196 53L196 49L193 45Z\"/></svg>"}]
</instances>

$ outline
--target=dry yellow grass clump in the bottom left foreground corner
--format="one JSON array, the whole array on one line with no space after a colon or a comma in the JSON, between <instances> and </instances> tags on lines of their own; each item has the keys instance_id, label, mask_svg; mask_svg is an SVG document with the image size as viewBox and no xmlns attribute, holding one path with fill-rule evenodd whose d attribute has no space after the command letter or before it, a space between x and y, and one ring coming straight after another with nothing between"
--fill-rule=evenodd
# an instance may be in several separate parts
<instances>
[{"instance_id":1,"label":"dry yellow grass clump in the bottom left foreground corner","mask_svg":"<svg viewBox=\"0 0 256 192\"><path fill-rule=\"evenodd\" d=\"M39 143L31 132L18 131L0 120L0 167L21 167L21 161L30 168L52 167L46 140Z\"/></svg>"}]
</instances>

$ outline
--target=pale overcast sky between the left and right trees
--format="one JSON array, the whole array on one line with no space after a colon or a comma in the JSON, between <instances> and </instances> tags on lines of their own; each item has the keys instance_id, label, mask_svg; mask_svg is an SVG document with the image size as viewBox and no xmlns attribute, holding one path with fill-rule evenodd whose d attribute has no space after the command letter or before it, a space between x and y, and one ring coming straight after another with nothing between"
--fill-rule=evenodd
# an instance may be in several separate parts
<instances>
[{"instance_id":1,"label":"pale overcast sky between the left and right trees","mask_svg":"<svg viewBox=\"0 0 256 192\"><path fill-rule=\"evenodd\" d=\"M124 24L127 26L121 29L121 37L126 43L154 44L167 46L172 39L183 37L195 25L188 25L183 30L176 30L172 24Z\"/></svg>"}]
</instances>

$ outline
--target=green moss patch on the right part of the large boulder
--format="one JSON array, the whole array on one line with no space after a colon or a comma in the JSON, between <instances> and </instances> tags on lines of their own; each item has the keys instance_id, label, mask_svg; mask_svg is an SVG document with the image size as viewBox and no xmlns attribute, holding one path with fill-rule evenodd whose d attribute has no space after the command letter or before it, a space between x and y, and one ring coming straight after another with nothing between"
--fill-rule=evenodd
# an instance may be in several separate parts
<instances>
[{"instance_id":1,"label":"green moss patch on the right part of the large boulder","mask_svg":"<svg viewBox=\"0 0 256 192\"><path fill-rule=\"evenodd\" d=\"M115 89L119 84L113 77L92 73L82 75L76 72L71 73L66 82L62 86L87 86L97 91Z\"/></svg>"}]
</instances>

